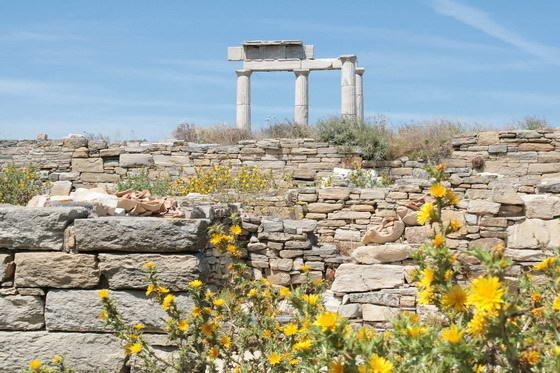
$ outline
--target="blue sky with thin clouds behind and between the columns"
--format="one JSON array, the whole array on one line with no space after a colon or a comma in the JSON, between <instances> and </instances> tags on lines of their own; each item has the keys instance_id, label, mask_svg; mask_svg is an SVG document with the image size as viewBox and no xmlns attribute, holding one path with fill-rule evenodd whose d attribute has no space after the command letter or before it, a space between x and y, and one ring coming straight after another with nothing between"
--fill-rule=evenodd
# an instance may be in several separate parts
<instances>
[{"instance_id":1,"label":"blue sky with thin clouds behind and between the columns","mask_svg":"<svg viewBox=\"0 0 560 373\"><path fill-rule=\"evenodd\" d=\"M235 121L228 46L296 39L358 55L366 116L560 123L560 2L62 1L0 4L0 138L163 139ZM312 121L336 115L338 71L310 75ZM252 77L253 127L291 119L292 73Z\"/></svg>"}]
</instances>

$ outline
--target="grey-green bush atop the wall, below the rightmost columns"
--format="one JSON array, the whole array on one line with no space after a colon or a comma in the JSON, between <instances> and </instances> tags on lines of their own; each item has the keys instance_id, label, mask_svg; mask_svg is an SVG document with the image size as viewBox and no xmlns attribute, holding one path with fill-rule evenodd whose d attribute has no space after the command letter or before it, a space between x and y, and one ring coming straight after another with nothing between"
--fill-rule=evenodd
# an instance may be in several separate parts
<instances>
[{"instance_id":1,"label":"grey-green bush atop the wall, below the rightmost columns","mask_svg":"<svg viewBox=\"0 0 560 373\"><path fill-rule=\"evenodd\" d=\"M387 130L384 122L363 122L331 117L317 122L319 139L335 145L359 146L362 157L382 160L388 155Z\"/></svg>"}]
</instances>

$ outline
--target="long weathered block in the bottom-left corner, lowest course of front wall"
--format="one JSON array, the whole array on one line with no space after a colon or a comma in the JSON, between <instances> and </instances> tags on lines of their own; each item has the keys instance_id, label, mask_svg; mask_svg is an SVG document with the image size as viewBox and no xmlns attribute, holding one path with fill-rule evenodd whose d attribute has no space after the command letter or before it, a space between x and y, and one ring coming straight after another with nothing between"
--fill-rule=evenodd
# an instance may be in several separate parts
<instances>
[{"instance_id":1,"label":"long weathered block in the bottom-left corner, lowest course of front wall","mask_svg":"<svg viewBox=\"0 0 560 373\"><path fill-rule=\"evenodd\" d=\"M0 371L19 373L31 359L50 361L63 355L78 372L121 372L125 355L121 342L111 334L0 331Z\"/></svg>"}]
</instances>

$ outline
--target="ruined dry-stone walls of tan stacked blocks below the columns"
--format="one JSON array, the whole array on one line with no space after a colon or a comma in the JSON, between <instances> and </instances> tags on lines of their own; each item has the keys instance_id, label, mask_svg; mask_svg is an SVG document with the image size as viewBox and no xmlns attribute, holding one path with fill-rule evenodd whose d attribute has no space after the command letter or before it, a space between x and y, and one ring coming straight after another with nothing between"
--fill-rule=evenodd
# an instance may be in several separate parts
<instances>
[{"instance_id":1,"label":"ruined dry-stone walls of tan stacked blocks below the columns","mask_svg":"<svg viewBox=\"0 0 560 373\"><path fill-rule=\"evenodd\" d=\"M177 177L212 163L289 170L296 186L254 195L243 204L182 200L184 218L96 217L91 207L0 206L0 371L18 372L30 356L64 354L82 370L120 371L119 342L96 319L96 289L109 288L131 321L142 322L164 350L159 310L143 296L142 264L160 268L162 283L181 295L201 278L219 284L227 259L210 249L206 228L233 211L241 215L247 263L256 278L278 286L302 281L300 267L329 281L329 310L357 324L386 328L395 314L431 312L417 303L411 251L429 237L415 215L429 199L421 161L362 161L394 183L379 188L320 187L321 178L359 152L311 139L244 141L237 145L106 144L85 138L0 141L1 162L32 163L45 179L71 188L109 187L147 169ZM475 162L473 162L475 161ZM444 160L448 187L462 201L444 212L462 228L450 234L455 250L505 245L514 262L509 279L560 246L560 131L480 132L456 138ZM270 208L274 216L259 207ZM259 212L260 211L260 212ZM461 260L473 275L472 257ZM80 348L76 348L80 346ZM96 359L91 359L96 356ZM130 362L128 362L130 363Z\"/></svg>"}]
</instances>

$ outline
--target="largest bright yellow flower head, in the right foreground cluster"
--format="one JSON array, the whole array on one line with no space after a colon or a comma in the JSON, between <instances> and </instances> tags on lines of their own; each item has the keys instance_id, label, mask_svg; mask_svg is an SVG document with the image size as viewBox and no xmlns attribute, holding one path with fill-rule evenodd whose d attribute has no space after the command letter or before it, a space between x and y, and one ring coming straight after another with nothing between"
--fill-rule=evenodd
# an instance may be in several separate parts
<instances>
[{"instance_id":1,"label":"largest bright yellow flower head, in the right foreground cluster","mask_svg":"<svg viewBox=\"0 0 560 373\"><path fill-rule=\"evenodd\" d=\"M467 304L480 312L493 313L503 303L504 289L497 277L479 277L471 283Z\"/></svg>"}]
</instances>

